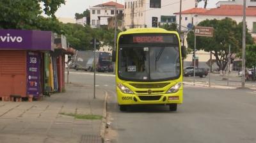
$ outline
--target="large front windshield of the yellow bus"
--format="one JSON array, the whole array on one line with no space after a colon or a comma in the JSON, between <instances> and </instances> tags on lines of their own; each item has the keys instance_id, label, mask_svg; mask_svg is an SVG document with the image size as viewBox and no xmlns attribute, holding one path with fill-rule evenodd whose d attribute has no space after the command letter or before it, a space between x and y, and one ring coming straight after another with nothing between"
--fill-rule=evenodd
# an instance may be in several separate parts
<instances>
[{"instance_id":1,"label":"large front windshield of the yellow bus","mask_svg":"<svg viewBox=\"0 0 256 143\"><path fill-rule=\"evenodd\" d=\"M170 80L180 75L178 46L120 47L118 74L127 80Z\"/></svg>"}]
</instances>

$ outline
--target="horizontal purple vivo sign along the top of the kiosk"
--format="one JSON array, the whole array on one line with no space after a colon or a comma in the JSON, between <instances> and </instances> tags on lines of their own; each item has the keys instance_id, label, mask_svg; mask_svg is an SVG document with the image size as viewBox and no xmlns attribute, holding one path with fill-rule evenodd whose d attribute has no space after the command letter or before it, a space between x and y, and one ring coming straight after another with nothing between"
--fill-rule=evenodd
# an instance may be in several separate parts
<instances>
[{"instance_id":1,"label":"horizontal purple vivo sign along the top of the kiosk","mask_svg":"<svg viewBox=\"0 0 256 143\"><path fill-rule=\"evenodd\" d=\"M51 31L0 30L0 50L53 50Z\"/></svg>"}]
</instances>

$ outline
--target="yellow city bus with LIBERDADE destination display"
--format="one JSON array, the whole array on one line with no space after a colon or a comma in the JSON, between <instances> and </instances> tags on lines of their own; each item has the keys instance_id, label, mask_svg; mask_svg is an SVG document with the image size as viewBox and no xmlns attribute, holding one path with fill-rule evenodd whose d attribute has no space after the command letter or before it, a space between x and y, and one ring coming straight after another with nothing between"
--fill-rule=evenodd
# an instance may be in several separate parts
<instances>
[{"instance_id":1,"label":"yellow city bus with LIBERDADE destination display","mask_svg":"<svg viewBox=\"0 0 256 143\"><path fill-rule=\"evenodd\" d=\"M129 29L118 34L116 94L121 111L129 105L182 103L182 55L179 34L160 28Z\"/></svg>"}]
</instances>

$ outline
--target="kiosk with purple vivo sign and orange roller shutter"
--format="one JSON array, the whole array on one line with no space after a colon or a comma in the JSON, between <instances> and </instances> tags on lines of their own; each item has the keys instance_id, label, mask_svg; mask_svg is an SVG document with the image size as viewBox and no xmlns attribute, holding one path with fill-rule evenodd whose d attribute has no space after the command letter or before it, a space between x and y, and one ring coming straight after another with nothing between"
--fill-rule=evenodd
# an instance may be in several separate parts
<instances>
[{"instance_id":1,"label":"kiosk with purple vivo sign and orange roller shutter","mask_svg":"<svg viewBox=\"0 0 256 143\"><path fill-rule=\"evenodd\" d=\"M38 98L44 93L45 54L54 50L51 31L0 30L0 98Z\"/></svg>"}]
</instances>

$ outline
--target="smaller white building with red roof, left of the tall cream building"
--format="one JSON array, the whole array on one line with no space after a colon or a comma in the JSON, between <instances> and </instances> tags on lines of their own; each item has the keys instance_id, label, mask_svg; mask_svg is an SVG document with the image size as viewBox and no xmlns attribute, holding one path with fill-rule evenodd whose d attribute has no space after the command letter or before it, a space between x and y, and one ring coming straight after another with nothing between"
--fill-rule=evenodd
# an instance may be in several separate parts
<instances>
[{"instance_id":1,"label":"smaller white building with red roof, left of the tall cream building","mask_svg":"<svg viewBox=\"0 0 256 143\"><path fill-rule=\"evenodd\" d=\"M115 16L116 13L124 13L124 5L113 1L90 6L90 24L91 27L108 26L108 18Z\"/></svg>"}]
</instances>

